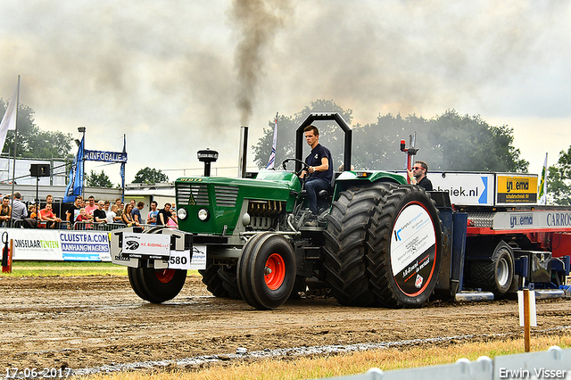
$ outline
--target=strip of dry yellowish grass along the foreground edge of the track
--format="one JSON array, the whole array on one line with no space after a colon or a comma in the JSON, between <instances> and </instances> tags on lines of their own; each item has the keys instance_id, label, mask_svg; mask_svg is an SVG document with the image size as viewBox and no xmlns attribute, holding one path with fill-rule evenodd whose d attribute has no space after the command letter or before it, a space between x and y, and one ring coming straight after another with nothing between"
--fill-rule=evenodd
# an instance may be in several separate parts
<instances>
[{"instance_id":1,"label":"strip of dry yellowish grass along the foreground edge of the track","mask_svg":"<svg viewBox=\"0 0 571 380\"><path fill-rule=\"evenodd\" d=\"M532 338L532 351L546 351L550 346L571 347L571 333ZM360 351L325 358L264 359L253 363L231 363L211 368L167 368L163 371L127 372L112 375L87 376L88 380L269 380L269 379L315 379L331 376L363 374L369 368L391 371L403 368L418 368L454 363L458 359L476 360L481 356L496 356L522 353L523 339L476 343L448 343L410 348Z\"/></svg>"}]
</instances>

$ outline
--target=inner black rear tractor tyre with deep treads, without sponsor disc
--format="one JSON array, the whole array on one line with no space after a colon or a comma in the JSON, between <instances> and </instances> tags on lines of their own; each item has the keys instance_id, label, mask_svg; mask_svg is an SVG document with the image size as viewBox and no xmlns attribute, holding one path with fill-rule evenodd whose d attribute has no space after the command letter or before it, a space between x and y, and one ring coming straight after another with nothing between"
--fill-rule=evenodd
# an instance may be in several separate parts
<instances>
[{"instance_id":1,"label":"inner black rear tractor tyre with deep treads, without sponsor disc","mask_svg":"<svg viewBox=\"0 0 571 380\"><path fill-rule=\"evenodd\" d=\"M327 215L325 230L326 283L337 302L376 306L367 271L367 231L386 184L352 188L339 194Z\"/></svg>"}]
</instances>

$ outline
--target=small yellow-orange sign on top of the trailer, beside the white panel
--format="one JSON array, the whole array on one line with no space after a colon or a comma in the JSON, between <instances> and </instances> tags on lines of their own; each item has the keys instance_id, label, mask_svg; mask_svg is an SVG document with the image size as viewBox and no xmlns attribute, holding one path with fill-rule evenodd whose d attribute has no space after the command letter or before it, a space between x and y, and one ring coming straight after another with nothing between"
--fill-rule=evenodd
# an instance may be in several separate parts
<instances>
[{"instance_id":1,"label":"small yellow-orange sign on top of the trailer, beside the white panel","mask_svg":"<svg viewBox=\"0 0 571 380\"><path fill-rule=\"evenodd\" d=\"M537 175L536 174L497 174L496 175L496 204L536 204Z\"/></svg>"}]
</instances>

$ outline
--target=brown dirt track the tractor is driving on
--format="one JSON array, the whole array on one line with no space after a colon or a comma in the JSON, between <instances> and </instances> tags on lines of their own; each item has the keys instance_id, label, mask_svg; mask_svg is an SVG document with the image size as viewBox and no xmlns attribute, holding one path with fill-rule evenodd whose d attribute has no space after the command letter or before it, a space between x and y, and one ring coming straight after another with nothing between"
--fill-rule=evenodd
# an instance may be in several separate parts
<instances>
[{"instance_id":1,"label":"brown dirt track the tractor is driving on","mask_svg":"<svg viewBox=\"0 0 571 380\"><path fill-rule=\"evenodd\" d=\"M279 310L210 297L187 277L172 302L140 300L127 277L0 277L0 370L94 368L114 363L323 344L452 335L520 335L517 302L432 303L420 310L362 309L310 297ZM538 326L571 325L571 301L538 302ZM558 334L549 332L546 334ZM5 373L5 372L4 372Z\"/></svg>"}]
</instances>

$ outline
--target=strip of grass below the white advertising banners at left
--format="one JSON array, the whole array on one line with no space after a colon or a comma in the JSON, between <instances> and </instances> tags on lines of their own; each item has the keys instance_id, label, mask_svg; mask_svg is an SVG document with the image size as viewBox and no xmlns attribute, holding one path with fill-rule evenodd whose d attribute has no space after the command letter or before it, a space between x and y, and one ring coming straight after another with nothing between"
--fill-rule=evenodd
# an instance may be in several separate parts
<instances>
[{"instance_id":1,"label":"strip of grass below the white advertising banners at left","mask_svg":"<svg viewBox=\"0 0 571 380\"><path fill-rule=\"evenodd\" d=\"M198 276L196 270L189 276ZM12 273L0 277L127 276L127 267L98 261L13 261Z\"/></svg>"}]
</instances>

